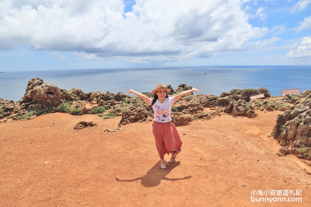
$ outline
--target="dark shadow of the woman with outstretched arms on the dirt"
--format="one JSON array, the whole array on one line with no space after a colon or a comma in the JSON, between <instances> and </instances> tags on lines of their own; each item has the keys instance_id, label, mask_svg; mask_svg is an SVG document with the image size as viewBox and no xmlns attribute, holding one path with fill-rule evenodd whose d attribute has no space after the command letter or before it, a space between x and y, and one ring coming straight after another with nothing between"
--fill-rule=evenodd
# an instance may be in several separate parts
<instances>
[{"instance_id":1,"label":"dark shadow of the woman with outstretched arms on the dirt","mask_svg":"<svg viewBox=\"0 0 311 207\"><path fill-rule=\"evenodd\" d=\"M120 181L120 182L133 182L137 180L142 180L141 181L142 186L156 187L157 185L161 183L161 180L176 181L176 180L185 180L185 179L191 178L190 175L184 178L166 178L165 176L168 175L172 169L177 167L180 164L180 161L167 164L165 170L160 168L160 162L161 161L157 162L150 170L148 170L147 174L142 177L135 178L132 180L119 180L118 178L115 178L115 179L116 181Z\"/></svg>"}]
</instances>

